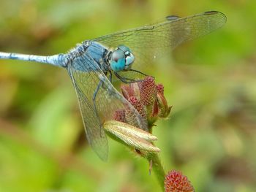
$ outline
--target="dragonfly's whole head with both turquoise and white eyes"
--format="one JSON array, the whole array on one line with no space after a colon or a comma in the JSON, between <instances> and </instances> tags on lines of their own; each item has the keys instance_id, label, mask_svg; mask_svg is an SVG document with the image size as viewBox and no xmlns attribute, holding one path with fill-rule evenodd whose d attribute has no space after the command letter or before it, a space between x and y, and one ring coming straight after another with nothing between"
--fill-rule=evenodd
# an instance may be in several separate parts
<instances>
[{"instance_id":1,"label":"dragonfly's whole head with both turquoise and white eyes","mask_svg":"<svg viewBox=\"0 0 256 192\"><path fill-rule=\"evenodd\" d=\"M120 45L110 55L110 68L114 72L125 71L131 68L135 56L127 46Z\"/></svg>"}]
</instances>

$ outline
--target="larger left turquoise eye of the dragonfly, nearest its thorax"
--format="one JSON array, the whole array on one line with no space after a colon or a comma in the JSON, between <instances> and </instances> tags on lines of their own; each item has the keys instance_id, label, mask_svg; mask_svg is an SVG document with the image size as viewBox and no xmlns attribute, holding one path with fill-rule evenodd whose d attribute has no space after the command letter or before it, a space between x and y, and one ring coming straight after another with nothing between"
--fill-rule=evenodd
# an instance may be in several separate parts
<instances>
[{"instance_id":1,"label":"larger left turquoise eye of the dragonfly, nearest its thorax","mask_svg":"<svg viewBox=\"0 0 256 192\"><path fill-rule=\"evenodd\" d=\"M125 67L125 55L122 50L115 50L110 58L110 67L115 72L124 70Z\"/></svg>"}]
</instances>

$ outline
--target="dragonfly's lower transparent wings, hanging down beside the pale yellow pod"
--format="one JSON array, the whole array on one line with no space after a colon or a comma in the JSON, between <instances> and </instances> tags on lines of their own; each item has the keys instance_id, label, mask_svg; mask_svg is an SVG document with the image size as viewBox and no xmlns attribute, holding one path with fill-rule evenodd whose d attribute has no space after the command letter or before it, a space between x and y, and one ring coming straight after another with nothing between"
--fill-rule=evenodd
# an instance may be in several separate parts
<instances>
[{"instance_id":1,"label":"dragonfly's lower transparent wings, hanging down beside the pale yellow pod","mask_svg":"<svg viewBox=\"0 0 256 192\"><path fill-rule=\"evenodd\" d=\"M127 119L128 123L144 130L147 130L146 120L116 91L88 54L73 55L69 61L68 72L78 96L86 137L99 158L106 161L108 140L103 123L113 120L117 110L129 110L132 115Z\"/></svg>"}]
</instances>

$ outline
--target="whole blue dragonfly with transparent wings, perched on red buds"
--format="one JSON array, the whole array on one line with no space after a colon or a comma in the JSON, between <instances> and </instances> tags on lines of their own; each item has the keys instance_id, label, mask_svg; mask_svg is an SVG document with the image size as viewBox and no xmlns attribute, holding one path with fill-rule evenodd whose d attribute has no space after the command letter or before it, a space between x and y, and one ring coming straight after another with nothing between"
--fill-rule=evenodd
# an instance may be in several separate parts
<instances>
[{"instance_id":1,"label":"whole blue dragonfly with transparent wings, perched on red buds","mask_svg":"<svg viewBox=\"0 0 256 192\"><path fill-rule=\"evenodd\" d=\"M146 119L116 90L112 77L124 83L140 80L141 75L146 75L141 69L151 67L168 49L209 34L225 23L226 16L217 11L186 18L170 15L158 23L83 41L67 53L42 56L0 52L0 58L67 69L89 145L99 158L107 161L108 139L102 125L113 120L117 110L128 109L132 114L128 123L148 131Z\"/></svg>"}]
</instances>

